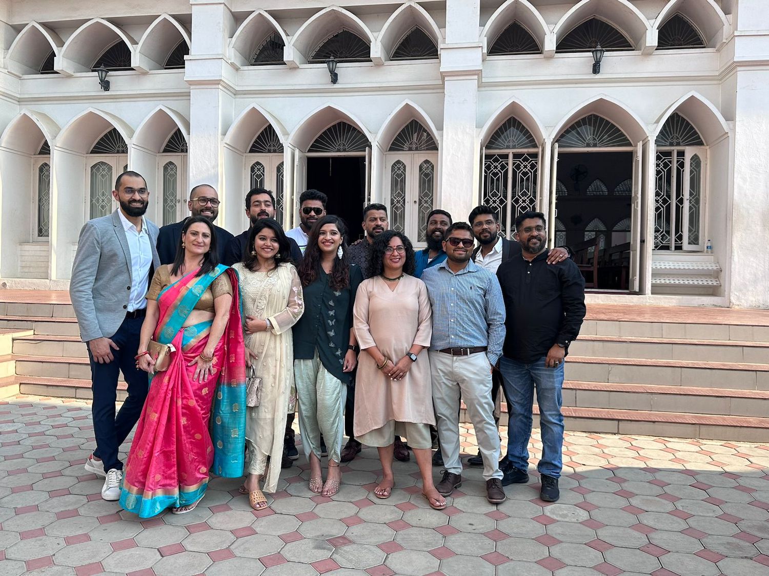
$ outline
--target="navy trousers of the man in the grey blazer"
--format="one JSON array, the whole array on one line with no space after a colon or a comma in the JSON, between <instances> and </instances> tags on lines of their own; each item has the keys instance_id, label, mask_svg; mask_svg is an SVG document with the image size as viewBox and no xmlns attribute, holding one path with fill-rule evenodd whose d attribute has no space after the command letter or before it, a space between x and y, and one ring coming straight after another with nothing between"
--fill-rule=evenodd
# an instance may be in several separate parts
<instances>
[{"instance_id":1,"label":"navy trousers of the man in the grey blazer","mask_svg":"<svg viewBox=\"0 0 769 576\"><path fill-rule=\"evenodd\" d=\"M93 391L92 415L96 449L94 455L102 458L105 472L112 468L122 470L118 459L118 448L131 432L141 415L148 392L148 375L136 367L136 352L139 348L139 333L144 316L126 318L112 336L118 350L112 350L114 359L108 364L99 364L88 349L91 360L91 389ZM86 345L87 346L87 345ZM115 415L118 399L118 373L123 372L128 384L128 398Z\"/></svg>"}]
</instances>

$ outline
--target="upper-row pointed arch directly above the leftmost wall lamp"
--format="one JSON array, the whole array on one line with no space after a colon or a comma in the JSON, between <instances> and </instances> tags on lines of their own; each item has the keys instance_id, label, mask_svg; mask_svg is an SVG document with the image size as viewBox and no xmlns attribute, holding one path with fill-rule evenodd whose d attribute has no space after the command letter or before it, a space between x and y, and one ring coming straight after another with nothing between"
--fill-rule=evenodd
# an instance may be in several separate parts
<instances>
[{"instance_id":1,"label":"upper-row pointed arch directly above the leftmost wall lamp","mask_svg":"<svg viewBox=\"0 0 769 576\"><path fill-rule=\"evenodd\" d=\"M67 38L54 68L67 73L89 72L96 58L116 41L125 42L133 59L136 41L127 32L104 18L89 20Z\"/></svg>"}]
</instances>

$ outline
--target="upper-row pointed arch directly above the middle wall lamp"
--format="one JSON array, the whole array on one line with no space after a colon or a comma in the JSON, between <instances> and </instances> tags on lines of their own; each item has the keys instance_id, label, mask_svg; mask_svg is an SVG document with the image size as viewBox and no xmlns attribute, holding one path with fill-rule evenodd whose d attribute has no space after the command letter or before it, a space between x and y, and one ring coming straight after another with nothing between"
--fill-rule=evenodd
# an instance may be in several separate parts
<instances>
[{"instance_id":1,"label":"upper-row pointed arch directly above the middle wall lamp","mask_svg":"<svg viewBox=\"0 0 769 576\"><path fill-rule=\"evenodd\" d=\"M312 15L291 38L288 45L291 61L294 65L306 64L321 42L343 29L358 35L368 43L370 50L375 49L374 35L358 16L345 8L328 6Z\"/></svg>"}]
</instances>

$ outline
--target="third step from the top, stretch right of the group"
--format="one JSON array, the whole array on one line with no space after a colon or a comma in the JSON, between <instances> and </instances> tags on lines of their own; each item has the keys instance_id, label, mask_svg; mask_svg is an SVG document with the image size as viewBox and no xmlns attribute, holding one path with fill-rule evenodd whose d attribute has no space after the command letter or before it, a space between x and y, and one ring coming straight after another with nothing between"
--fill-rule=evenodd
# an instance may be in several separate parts
<instances>
[{"instance_id":1,"label":"third step from the top, stretch right of the group","mask_svg":"<svg viewBox=\"0 0 769 576\"><path fill-rule=\"evenodd\" d=\"M769 390L769 365L644 358L566 359L566 379L581 382L658 384L741 390Z\"/></svg>"}]
</instances>

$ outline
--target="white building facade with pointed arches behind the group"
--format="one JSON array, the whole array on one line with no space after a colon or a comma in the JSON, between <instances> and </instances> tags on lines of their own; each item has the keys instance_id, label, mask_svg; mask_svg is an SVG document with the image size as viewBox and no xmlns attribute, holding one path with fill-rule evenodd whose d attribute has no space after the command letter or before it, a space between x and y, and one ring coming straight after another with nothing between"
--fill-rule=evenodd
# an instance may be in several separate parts
<instances>
[{"instance_id":1,"label":"white building facade with pointed arches behind the group","mask_svg":"<svg viewBox=\"0 0 769 576\"><path fill-rule=\"evenodd\" d=\"M466 220L491 204L508 234L537 209L589 301L769 307L765 0L96 9L0 2L5 286L65 286L127 167L160 225L196 184L219 190L232 233L254 186L286 228L314 187L352 237L381 202L418 244L434 207Z\"/></svg>"}]
</instances>

